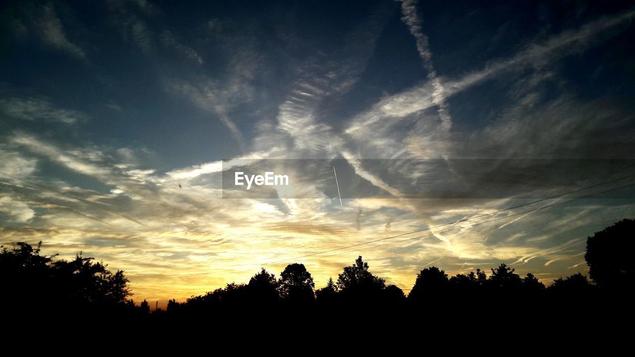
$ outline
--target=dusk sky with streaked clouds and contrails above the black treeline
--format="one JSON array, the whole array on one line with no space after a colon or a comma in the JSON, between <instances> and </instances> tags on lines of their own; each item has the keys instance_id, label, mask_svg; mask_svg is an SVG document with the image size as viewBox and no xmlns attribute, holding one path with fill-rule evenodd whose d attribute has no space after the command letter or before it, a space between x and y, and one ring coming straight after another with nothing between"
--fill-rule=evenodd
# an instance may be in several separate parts
<instances>
[{"instance_id":1,"label":"dusk sky with streaked clouds and contrails above the black treeline","mask_svg":"<svg viewBox=\"0 0 635 357\"><path fill-rule=\"evenodd\" d=\"M431 265L586 274L587 236L635 216L634 18L4 1L0 244L95 257L159 304L292 262L321 287L358 255L406 293ZM290 184L246 191L238 170Z\"/></svg>"}]
</instances>

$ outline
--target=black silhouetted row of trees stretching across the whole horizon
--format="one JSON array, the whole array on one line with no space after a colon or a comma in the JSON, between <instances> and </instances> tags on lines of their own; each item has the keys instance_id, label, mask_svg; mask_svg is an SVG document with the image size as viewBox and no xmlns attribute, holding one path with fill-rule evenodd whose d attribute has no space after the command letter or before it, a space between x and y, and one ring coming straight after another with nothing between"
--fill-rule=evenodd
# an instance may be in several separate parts
<instances>
[{"instance_id":1,"label":"black silhouetted row of trees stretching across the whole horizon","mask_svg":"<svg viewBox=\"0 0 635 357\"><path fill-rule=\"evenodd\" d=\"M264 268L248 283L229 283L185 302L172 299L166 311L152 315L196 316L205 313L230 313L240 309L268 307L426 307L439 301L496 301L505 306L519 301L552 304L572 297L615 296L634 283L635 271L630 254L634 248L635 220L624 219L587 238L584 254L589 276L577 273L554 280L549 286L531 273L519 276L512 267L500 264L490 274L476 269L448 277L436 266L425 267L408 296L396 285L387 285L372 274L359 256L344 267L337 280L330 278L323 288L315 289L311 273L304 264L289 264L279 278ZM73 260L41 253L37 246L18 242L0 251L0 284L3 306L37 309L48 313L91 311L126 316L150 315L147 301L139 306L130 298L128 279L123 271L112 273L107 265L93 258L76 255ZM482 299L482 300L478 300Z\"/></svg>"}]
</instances>

